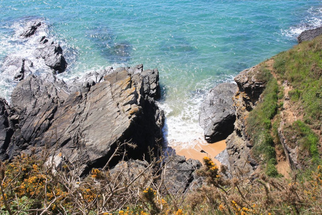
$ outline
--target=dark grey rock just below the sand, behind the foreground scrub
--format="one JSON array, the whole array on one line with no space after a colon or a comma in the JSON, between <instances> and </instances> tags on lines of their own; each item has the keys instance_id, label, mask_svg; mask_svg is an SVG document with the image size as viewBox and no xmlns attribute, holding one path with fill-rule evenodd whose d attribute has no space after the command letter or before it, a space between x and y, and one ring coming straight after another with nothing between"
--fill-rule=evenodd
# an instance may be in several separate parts
<instances>
[{"instance_id":1,"label":"dark grey rock just below the sand, behind the foreground scrub","mask_svg":"<svg viewBox=\"0 0 322 215\"><path fill-rule=\"evenodd\" d=\"M173 192L183 193L194 182L197 183L195 171L202 167L198 160L185 160L184 156L172 155L165 159L164 178L168 189Z\"/></svg>"}]
</instances>

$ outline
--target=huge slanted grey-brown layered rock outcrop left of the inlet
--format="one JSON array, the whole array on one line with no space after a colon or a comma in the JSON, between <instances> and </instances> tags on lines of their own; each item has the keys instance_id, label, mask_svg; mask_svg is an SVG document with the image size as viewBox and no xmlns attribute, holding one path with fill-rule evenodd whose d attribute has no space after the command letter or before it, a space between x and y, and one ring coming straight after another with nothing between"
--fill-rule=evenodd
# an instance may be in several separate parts
<instances>
[{"instance_id":1,"label":"huge slanted grey-brown layered rock outcrop left of the inlet","mask_svg":"<svg viewBox=\"0 0 322 215\"><path fill-rule=\"evenodd\" d=\"M11 104L19 120L4 156L41 151L47 145L58 147L69 161L81 150L90 168L104 166L118 142L137 145L127 149L129 158L142 158L153 148L157 152L163 111L145 94L140 73L129 73L131 68L111 70L99 72L106 72L103 79L96 73L83 77L89 81L78 90L52 74L21 81Z\"/></svg>"}]
</instances>

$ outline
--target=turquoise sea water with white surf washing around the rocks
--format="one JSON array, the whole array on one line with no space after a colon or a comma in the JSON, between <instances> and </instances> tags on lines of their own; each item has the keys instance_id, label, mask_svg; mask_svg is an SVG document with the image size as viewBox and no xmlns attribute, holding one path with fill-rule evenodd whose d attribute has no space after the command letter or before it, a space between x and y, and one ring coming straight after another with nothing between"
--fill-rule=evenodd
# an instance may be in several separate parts
<instances>
[{"instance_id":1,"label":"turquoise sea water with white surf washing around the rocks","mask_svg":"<svg viewBox=\"0 0 322 215\"><path fill-rule=\"evenodd\" d=\"M27 23L42 20L22 39ZM0 0L0 67L6 58L34 59L42 35L59 41L68 81L108 66L158 68L169 145L202 138L198 118L207 91L297 44L303 30L322 24L322 2L225 0ZM0 96L10 101L17 82L0 71Z\"/></svg>"}]
</instances>

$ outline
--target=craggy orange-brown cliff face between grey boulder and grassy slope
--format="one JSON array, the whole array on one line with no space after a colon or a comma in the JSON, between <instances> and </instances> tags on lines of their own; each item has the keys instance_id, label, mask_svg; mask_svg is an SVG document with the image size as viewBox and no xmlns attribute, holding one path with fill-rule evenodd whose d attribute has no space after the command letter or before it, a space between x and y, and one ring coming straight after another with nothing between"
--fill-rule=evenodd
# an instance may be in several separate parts
<instances>
[{"instance_id":1,"label":"craggy orange-brown cliff face between grey boulder and grassy slope","mask_svg":"<svg viewBox=\"0 0 322 215\"><path fill-rule=\"evenodd\" d=\"M242 71L234 78L238 85L238 91L233 97L236 121L234 131L226 139L232 175L240 172L248 172L247 174L250 175L258 166L250 155L252 145L245 132L245 121L265 89L266 81L262 75L261 66L256 65Z\"/></svg>"}]
</instances>

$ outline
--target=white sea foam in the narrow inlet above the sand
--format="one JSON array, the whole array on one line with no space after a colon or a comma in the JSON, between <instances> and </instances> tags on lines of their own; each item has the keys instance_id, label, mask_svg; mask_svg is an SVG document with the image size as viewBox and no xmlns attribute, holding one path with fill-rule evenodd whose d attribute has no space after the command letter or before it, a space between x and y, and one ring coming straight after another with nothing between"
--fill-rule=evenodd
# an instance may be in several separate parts
<instances>
[{"instance_id":1,"label":"white sea foam in the narrow inlet above the sand","mask_svg":"<svg viewBox=\"0 0 322 215\"><path fill-rule=\"evenodd\" d=\"M204 138L204 131L199 125L200 107L206 98L209 87L221 82L233 82L233 75L220 75L197 83L197 90L190 99L177 101L161 101L158 105L164 110L166 121L163 128L164 147L180 145L181 148L192 148L196 141ZM174 107L173 107L174 106ZM174 114L175 107L180 110Z\"/></svg>"}]
</instances>

